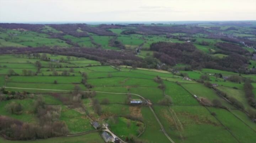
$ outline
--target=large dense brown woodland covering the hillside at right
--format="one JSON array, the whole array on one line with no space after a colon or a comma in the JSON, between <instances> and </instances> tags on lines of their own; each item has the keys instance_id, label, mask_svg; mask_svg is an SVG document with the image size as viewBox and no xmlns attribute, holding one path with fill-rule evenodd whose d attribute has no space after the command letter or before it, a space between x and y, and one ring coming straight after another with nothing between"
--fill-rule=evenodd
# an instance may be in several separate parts
<instances>
[{"instance_id":1,"label":"large dense brown woodland covering the hillside at right","mask_svg":"<svg viewBox=\"0 0 256 143\"><path fill-rule=\"evenodd\" d=\"M150 45L150 50L155 51L154 57L162 63L184 63L191 65L192 69L210 68L244 73L247 70L243 66L249 62L249 59L234 52L225 58L214 58L190 43L157 42Z\"/></svg>"}]
</instances>

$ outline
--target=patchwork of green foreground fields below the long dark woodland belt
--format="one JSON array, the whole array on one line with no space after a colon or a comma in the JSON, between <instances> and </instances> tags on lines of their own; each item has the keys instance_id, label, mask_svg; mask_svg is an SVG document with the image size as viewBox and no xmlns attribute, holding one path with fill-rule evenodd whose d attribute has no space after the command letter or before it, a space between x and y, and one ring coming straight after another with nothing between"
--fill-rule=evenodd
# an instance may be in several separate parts
<instances>
[{"instance_id":1,"label":"patchwork of green foreground fields below the long dark woodland belt","mask_svg":"<svg viewBox=\"0 0 256 143\"><path fill-rule=\"evenodd\" d=\"M138 45L140 42L138 40L133 44ZM33 112L33 103L40 96L43 97L46 105L60 110L58 120L65 122L69 134L95 131L90 122L96 120L100 123L107 122L111 131L123 140L130 135L135 137L139 135L138 139L148 142L170 142L164 132L174 142L250 143L256 139L256 124L244 111L227 102L212 89L194 81L200 79L201 75L207 74L210 76L210 82L217 83L219 90L242 102L245 110L255 110L246 102L243 83L224 81L212 75L213 73L223 75L236 73L212 69L180 71L194 79L190 81L183 80L183 76L168 71L132 69L124 66L115 68L85 58L67 58L60 55L47 54L47 57L51 60L43 61L33 57L15 55L0 56L0 86L5 86L5 89L10 92L33 93L30 98L1 101L0 115L10 116L23 122L39 122L37 115ZM39 71L34 64L36 61L42 63ZM36 74L25 75L25 70L31 70ZM82 83L83 73L87 75L86 85ZM155 81L156 76L162 80L162 84L165 85L164 89L159 88L159 83ZM247 77L247 75L241 76ZM254 76L251 78L254 79ZM74 96L73 93L77 88L80 94L95 91L96 95L81 98L81 107L77 107L74 103L64 100L65 98L73 101L74 97L73 99L69 97ZM203 106L193 95L209 101L218 99L226 109ZM162 103L166 96L171 98L171 104ZM153 111L150 110L149 105L127 104L128 97L148 100L152 104L150 106ZM95 99L100 104L101 114L95 112ZM5 107L11 102L21 104L23 113L20 115L9 113ZM33 142L83 141L103 142L97 132ZM6 141L0 138L0 142L23 141Z\"/></svg>"}]
</instances>

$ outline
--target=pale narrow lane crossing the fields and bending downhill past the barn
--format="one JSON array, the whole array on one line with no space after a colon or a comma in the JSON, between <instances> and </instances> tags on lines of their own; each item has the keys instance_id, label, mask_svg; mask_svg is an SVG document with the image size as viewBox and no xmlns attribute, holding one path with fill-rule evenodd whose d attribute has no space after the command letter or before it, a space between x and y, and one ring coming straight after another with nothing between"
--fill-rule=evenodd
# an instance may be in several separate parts
<instances>
[{"instance_id":1,"label":"pale narrow lane crossing the fields and bending downhill past the barn","mask_svg":"<svg viewBox=\"0 0 256 143\"><path fill-rule=\"evenodd\" d=\"M40 88L23 88L23 87L4 87L4 88L12 88L12 89L23 89L23 90L44 90L44 91L74 91L74 90L54 90L54 89L40 89ZM80 90L80 92L91 92L91 91L83 91ZM138 96L144 100L146 100L143 96L135 94L135 93L116 93L116 92L104 92L104 91L95 91L96 93L109 93L109 94L121 94L121 95L135 95ZM153 110L153 108L151 107L151 105L149 106L150 110L152 111L152 113L155 116L155 119L158 121L159 126L161 127L162 132L165 134L165 136L169 139L170 142L175 143L170 137L169 135L166 133L164 127L162 126L160 120L158 119L158 116L155 114L155 111Z\"/></svg>"}]
</instances>

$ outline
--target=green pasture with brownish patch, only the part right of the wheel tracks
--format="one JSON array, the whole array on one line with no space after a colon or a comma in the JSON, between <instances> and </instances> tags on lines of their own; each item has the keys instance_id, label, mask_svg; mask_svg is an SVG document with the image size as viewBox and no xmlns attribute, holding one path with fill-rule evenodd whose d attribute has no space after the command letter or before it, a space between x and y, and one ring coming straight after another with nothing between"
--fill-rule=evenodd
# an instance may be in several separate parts
<instances>
[{"instance_id":1,"label":"green pasture with brownish patch, only the part right of the wheel tracks","mask_svg":"<svg viewBox=\"0 0 256 143\"><path fill-rule=\"evenodd\" d=\"M223 126L202 106L171 107L182 123L184 142L236 142ZM212 136L214 133L214 136Z\"/></svg>"}]
</instances>

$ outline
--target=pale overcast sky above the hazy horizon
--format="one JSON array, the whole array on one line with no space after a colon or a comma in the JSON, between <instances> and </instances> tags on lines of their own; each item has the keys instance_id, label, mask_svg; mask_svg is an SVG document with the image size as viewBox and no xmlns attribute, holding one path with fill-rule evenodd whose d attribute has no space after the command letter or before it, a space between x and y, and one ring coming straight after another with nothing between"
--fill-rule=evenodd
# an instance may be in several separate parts
<instances>
[{"instance_id":1,"label":"pale overcast sky above the hazy horizon","mask_svg":"<svg viewBox=\"0 0 256 143\"><path fill-rule=\"evenodd\" d=\"M0 0L0 22L256 20L256 0Z\"/></svg>"}]
</instances>

